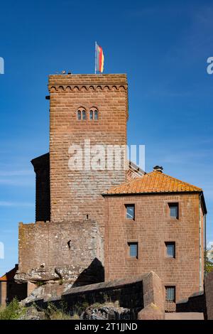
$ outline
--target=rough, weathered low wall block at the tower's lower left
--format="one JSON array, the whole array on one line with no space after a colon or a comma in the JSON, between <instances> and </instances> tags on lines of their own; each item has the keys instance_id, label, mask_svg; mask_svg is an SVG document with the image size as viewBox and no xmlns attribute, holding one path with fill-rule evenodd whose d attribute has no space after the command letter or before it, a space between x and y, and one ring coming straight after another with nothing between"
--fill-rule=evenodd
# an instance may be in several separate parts
<instances>
[{"instance_id":1,"label":"rough, weathered low wall block at the tower's lower left","mask_svg":"<svg viewBox=\"0 0 213 334\"><path fill-rule=\"evenodd\" d=\"M82 285L104 281L103 242L96 222L19 225L16 280L62 279Z\"/></svg>"}]
</instances>

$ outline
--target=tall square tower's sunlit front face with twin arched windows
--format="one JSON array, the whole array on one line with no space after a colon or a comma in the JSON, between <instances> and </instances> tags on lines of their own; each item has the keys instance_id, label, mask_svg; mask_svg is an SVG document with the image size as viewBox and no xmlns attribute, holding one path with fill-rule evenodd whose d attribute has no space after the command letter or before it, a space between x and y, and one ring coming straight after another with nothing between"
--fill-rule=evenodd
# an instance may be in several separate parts
<instances>
[{"instance_id":1,"label":"tall square tower's sunlit front face with twin arched windows","mask_svg":"<svg viewBox=\"0 0 213 334\"><path fill-rule=\"evenodd\" d=\"M84 155L88 158L87 149L94 149L94 145L103 145L106 157L109 145L126 145L126 75L50 75L48 89L50 221L92 219L99 223L103 234L102 193L111 185L126 180L126 171L122 168L124 161L121 161L121 168L117 169L107 168L107 162L103 166L103 161L98 159L97 169L94 170ZM73 145L83 149L81 168L70 168L70 158L73 157L72 153L76 153ZM102 166L99 168L100 163Z\"/></svg>"}]
</instances>

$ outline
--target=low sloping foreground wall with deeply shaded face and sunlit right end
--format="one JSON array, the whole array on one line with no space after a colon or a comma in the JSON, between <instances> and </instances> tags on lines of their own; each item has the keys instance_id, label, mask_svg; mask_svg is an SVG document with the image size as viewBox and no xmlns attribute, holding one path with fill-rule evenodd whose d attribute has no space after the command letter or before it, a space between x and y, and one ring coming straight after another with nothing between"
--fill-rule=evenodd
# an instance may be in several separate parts
<instances>
[{"instance_id":1,"label":"low sloping foreground wall with deeply shaded face and sunlit right end","mask_svg":"<svg viewBox=\"0 0 213 334\"><path fill-rule=\"evenodd\" d=\"M130 309L131 319L163 320L165 318L163 286L154 272L67 289L60 297L38 298L26 303L26 306L33 304L38 308L47 308L50 302L57 308L65 304L70 315L76 312L81 315L84 308L96 303L119 302L119 306ZM87 306L84 306L86 304Z\"/></svg>"}]
</instances>

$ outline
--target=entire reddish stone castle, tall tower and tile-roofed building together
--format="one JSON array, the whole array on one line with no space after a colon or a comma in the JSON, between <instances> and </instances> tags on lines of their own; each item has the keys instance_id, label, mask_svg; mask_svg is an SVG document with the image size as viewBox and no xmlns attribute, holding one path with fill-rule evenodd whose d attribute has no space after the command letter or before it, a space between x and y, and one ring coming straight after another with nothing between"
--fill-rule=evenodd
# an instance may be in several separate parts
<instances>
[{"instance_id":1,"label":"entire reddish stone castle, tall tower and tile-roofed building together","mask_svg":"<svg viewBox=\"0 0 213 334\"><path fill-rule=\"evenodd\" d=\"M202 290L207 209L201 188L159 166L145 173L125 153L124 168L101 166L101 158L94 169L85 162L70 168L85 139L97 151L126 146L126 75L50 75L48 90L50 153L31 161L36 217L19 225L16 279L80 286L155 271L168 309Z\"/></svg>"}]
</instances>

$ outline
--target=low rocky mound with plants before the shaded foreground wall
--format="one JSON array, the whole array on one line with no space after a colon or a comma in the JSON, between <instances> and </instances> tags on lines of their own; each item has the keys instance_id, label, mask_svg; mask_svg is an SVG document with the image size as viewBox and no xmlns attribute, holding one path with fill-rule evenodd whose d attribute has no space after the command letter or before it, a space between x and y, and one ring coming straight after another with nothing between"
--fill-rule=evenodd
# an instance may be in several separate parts
<instances>
[{"instance_id":1,"label":"low rocky mound with plants before the shaded foreground wall","mask_svg":"<svg viewBox=\"0 0 213 334\"><path fill-rule=\"evenodd\" d=\"M131 310L107 303L97 306L89 306L80 316L82 320L120 320L131 319Z\"/></svg>"}]
</instances>

